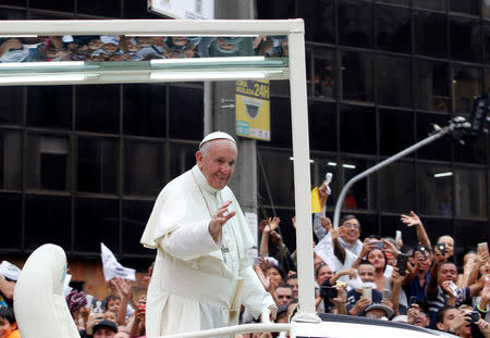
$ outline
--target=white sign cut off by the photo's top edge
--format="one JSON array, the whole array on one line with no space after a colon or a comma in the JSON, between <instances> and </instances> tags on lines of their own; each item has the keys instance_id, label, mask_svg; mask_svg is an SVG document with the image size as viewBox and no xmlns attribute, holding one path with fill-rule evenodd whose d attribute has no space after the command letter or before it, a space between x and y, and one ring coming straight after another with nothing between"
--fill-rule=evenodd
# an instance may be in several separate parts
<instances>
[{"instance_id":1,"label":"white sign cut off by the photo's top edge","mask_svg":"<svg viewBox=\"0 0 490 338\"><path fill-rule=\"evenodd\" d=\"M215 0L148 0L148 11L173 18L215 18Z\"/></svg>"}]
</instances>

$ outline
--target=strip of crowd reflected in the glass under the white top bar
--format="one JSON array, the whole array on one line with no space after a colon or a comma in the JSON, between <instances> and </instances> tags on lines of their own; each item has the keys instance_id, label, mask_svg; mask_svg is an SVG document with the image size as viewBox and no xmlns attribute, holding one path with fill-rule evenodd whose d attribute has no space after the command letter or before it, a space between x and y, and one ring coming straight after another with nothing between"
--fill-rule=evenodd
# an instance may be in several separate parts
<instances>
[{"instance_id":1,"label":"strip of crowd reflected in the glass under the white top bar","mask_svg":"<svg viewBox=\"0 0 490 338\"><path fill-rule=\"evenodd\" d=\"M0 62L287 57L286 37L41 36L0 38Z\"/></svg>"}]
</instances>

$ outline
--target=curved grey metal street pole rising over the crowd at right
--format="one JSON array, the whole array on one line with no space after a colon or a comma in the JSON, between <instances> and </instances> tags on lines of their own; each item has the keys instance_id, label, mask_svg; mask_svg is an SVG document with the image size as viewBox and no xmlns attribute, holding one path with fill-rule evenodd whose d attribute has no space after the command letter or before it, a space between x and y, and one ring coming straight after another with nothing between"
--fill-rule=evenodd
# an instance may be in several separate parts
<instances>
[{"instance_id":1,"label":"curved grey metal street pole rising over the crowd at right","mask_svg":"<svg viewBox=\"0 0 490 338\"><path fill-rule=\"evenodd\" d=\"M375 166L371 166L370 168L364 171L363 173L354 176L353 178L351 178L350 181L347 181L347 184L342 188L342 191L339 196L339 200L336 201L335 204L335 211L333 213L333 228L336 229L339 227L339 218L340 218L340 213L341 213L341 209L342 209L342 203L344 202L344 198L345 195L347 195L348 189L351 189L351 187L358 180L363 179L366 176L369 176L370 174L379 171L380 168L382 168L383 166L387 166L388 164L391 164L393 162L395 162L396 160L409 154L411 152L414 152L415 150L417 150L418 148L421 148L434 140L437 140L438 138L444 136L445 134L448 134L449 132L454 129L454 124L450 124L449 126L442 128L442 129L438 129L434 134L432 134L431 136L422 139L421 141L406 148L405 150L402 150L399 153L395 153L394 155L392 155L391 158L388 158L387 160L376 164Z\"/></svg>"}]
</instances>

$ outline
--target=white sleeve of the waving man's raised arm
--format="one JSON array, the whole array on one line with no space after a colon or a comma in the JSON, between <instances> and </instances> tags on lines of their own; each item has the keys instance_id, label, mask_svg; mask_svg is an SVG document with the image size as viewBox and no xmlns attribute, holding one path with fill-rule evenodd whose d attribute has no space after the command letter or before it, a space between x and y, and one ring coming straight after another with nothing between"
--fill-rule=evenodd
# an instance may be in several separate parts
<instances>
[{"instance_id":1,"label":"white sleeve of the waving man's raised arm","mask_svg":"<svg viewBox=\"0 0 490 338\"><path fill-rule=\"evenodd\" d=\"M161 248L170 255L189 261L219 250L208 230L209 222L186 224L167 234Z\"/></svg>"}]
</instances>

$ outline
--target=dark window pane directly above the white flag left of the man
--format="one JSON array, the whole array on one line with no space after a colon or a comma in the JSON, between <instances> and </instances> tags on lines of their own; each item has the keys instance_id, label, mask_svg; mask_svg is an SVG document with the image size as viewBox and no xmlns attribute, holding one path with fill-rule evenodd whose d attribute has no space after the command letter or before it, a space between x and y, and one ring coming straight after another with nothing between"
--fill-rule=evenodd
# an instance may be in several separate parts
<instances>
[{"instance_id":1,"label":"dark window pane directly above the white flag left of the man","mask_svg":"<svg viewBox=\"0 0 490 338\"><path fill-rule=\"evenodd\" d=\"M103 242L119 253L119 201L110 199L75 199L75 250L100 252Z\"/></svg>"}]
</instances>

